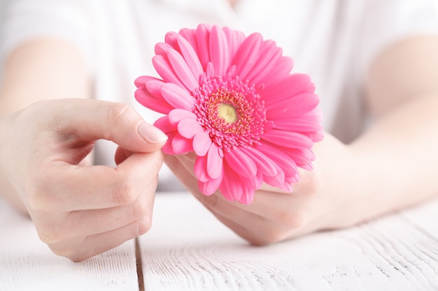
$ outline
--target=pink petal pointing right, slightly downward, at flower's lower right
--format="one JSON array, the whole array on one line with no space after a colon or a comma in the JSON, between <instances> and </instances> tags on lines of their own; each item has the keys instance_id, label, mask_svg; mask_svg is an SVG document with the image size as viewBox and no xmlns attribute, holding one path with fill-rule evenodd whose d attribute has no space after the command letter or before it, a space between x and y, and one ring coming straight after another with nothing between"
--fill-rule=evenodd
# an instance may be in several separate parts
<instances>
[{"instance_id":1,"label":"pink petal pointing right, slightly downward, at flower's lower right","mask_svg":"<svg viewBox=\"0 0 438 291\"><path fill-rule=\"evenodd\" d=\"M285 130L270 129L263 133L262 140L267 140L274 144L292 148L311 148L312 140L301 133L292 133Z\"/></svg>"}]
</instances>

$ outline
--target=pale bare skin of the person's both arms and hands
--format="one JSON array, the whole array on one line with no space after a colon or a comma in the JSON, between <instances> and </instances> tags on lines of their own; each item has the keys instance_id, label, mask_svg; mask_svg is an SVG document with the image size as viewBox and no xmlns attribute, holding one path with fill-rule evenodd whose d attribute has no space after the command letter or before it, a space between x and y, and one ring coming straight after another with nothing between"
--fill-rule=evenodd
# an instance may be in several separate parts
<instances>
[{"instance_id":1,"label":"pale bare skin of the person's both arms and hands","mask_svg":"<svg viewBox=\"0 0 438 291\"><path fill-rule=\"evenodd\" d=\"M0 195L29 213L54 253L71 260L147 232L162 133L126 105L72 99L91 96L90 80L78 50L60 40L18 47L4 75ZM355 225L438 194L437 80L437 38L418 36L389 47L365 80L376 122L351 144L326 133L313 149L315 169L302 171L292 193L264 186L246 206L220 193L205 196L191 154L165 160L197 199L251 244ZM119 144L117 167L87 163L101 138Z\"/></svg>"}]
</instances>

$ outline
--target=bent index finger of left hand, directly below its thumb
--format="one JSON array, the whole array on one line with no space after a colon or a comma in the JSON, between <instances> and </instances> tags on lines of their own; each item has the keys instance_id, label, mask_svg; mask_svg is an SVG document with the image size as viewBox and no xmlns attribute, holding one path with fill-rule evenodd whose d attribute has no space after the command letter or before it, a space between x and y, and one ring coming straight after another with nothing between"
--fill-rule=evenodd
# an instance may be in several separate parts
<instances>
[{"instance_id":1,"label":"bent index finger of left hand, directly below its thumb","mask_svg":"<svg viewBox=\"0 0 438 291\"><path fill-rule=\"evenodd\" d=\"M62 162L58 162L62 163ZM95 165L79 167L62 163L52 167L41 181L41 192L30 198L31 208L73 211L104 209L134 202L151 185L157 186L157 174L162 165L162 152L133 154L117 167Z\"/></svg>"}]
</instances>

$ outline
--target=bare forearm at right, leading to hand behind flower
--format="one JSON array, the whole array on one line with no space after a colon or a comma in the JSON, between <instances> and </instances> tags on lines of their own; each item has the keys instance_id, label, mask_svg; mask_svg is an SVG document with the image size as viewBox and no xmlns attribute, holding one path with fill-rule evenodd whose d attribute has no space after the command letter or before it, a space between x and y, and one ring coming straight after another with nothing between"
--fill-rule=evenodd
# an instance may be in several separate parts
<instances>
[{"instance_id":1,"label":"bare forearm at right, leading to hand behind flower","mask_svg":"<svg viewBox=\"0 0 438 291\"><path fill-rule=\"evenodd\" d=\"M438 94L398 106L353 142L364 209L380 215L438 195L437 144Z\"/></svg>"}]
</instances>

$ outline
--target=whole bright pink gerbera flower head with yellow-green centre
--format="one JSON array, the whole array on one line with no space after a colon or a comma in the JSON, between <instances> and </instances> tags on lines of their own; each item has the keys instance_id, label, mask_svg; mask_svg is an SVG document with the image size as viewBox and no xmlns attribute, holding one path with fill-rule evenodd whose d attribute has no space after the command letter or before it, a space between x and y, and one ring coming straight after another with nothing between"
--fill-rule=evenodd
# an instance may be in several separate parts
<instances>
[{"instance_id":1,"label":"whole bright pink gerbera flower head with yellow-green centre","mask_svg":"<svg viewBox=\"0 0 438 291\"><path fill-rule=\"evenodd\" d=\"M137 78L136 100L165 114L155 122L165 154L195 151L202 193L248 204L263 181L292 191L297 167L311 170L319 98L274 41L200 24L167 33L155 54L162 80Z\"/></svg>"}]
</instances>

